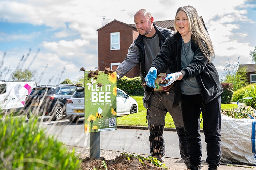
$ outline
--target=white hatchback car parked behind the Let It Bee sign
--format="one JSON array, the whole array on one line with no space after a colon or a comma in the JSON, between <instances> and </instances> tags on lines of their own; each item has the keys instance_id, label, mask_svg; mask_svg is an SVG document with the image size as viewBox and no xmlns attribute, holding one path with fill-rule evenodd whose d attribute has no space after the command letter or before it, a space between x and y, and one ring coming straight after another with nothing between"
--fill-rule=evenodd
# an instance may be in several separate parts
<instances>
[{"instance_id":1,"label":"white hatchback car parked behind the Let It Bee sign","mask_svg":"<svg viewBox=\"0 0 256 170\"><path fill-rule=\"evenodd\" d=\"M117 116L138 112L138 103L135 99L119 88L116 89L116 92ZM71 122L84 117L84 87L77 87L72 97L68 99L66 114Z\"/></svg>"}]
</instances>

